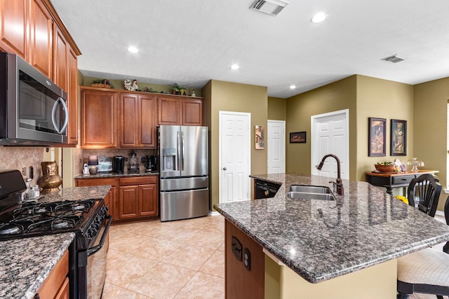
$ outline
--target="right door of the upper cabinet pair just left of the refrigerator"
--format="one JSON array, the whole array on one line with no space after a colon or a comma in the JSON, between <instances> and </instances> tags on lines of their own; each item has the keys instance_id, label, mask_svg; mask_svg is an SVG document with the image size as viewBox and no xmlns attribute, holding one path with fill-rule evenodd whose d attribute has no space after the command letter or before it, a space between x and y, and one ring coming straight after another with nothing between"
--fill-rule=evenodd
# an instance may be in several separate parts
<instances>
[{"instance_id":1,"label":"right door of the upper cabinet pair just left of the refrigerator","mask_svg":"<svg viewBox=\"0 0 449 299\"><path fill-rule=\"evenodd\" d=\"M156 97L139 96L138 140L142 147L156 148Z\"/></svg>"}]
</instances>

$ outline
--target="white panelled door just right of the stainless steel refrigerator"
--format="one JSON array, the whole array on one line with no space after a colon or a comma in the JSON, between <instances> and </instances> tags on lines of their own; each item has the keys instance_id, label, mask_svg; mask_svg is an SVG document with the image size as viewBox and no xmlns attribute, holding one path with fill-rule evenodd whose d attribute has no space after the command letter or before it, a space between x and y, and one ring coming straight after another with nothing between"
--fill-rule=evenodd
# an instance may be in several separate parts
<instances>
[{"instance_id":1,"label":"white panelled door just right of the stainless steel refrigerator","mask_svg":"<svg viewBox=\"0 0 449 299\"><path fill-rule=\"evenodd\" d=\"M250 113L220 111L219 202L250 199Z\"/></svg>"}]
</instances>

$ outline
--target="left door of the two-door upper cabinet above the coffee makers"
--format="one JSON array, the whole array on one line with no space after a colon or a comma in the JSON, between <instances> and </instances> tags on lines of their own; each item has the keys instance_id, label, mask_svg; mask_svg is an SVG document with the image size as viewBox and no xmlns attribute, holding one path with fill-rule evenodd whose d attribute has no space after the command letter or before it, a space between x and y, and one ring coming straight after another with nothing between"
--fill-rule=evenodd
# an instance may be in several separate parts
<instances>
[{"instance_id":1,"label":"left door of the two-door upper cabinet above the coffee makers","mask_svg":"<svg viewBox=\"0 0 449 299\"><path fill-rule=\"evenodd\" d=\"M138 141L138 95L120 95L120 146L135 147Z\"/></svg>"}]
</instances>

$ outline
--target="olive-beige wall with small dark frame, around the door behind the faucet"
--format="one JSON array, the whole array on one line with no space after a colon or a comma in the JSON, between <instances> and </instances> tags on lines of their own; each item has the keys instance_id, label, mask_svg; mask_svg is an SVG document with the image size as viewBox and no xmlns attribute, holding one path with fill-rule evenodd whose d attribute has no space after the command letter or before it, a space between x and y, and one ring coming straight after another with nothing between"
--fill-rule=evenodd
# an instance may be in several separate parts
<instances>
[{"instance_id":1,"label":"olive-beige wall with small dark frame, around the door behind the faucet","mask_svg":"<svg viewBox=\"0 0 449 299\"><path fill-rule=\"evenodd\" d=\"M356 169L356 76L330 83L287 99L286 172L310 174L310 117L322 113L349 109L349 178L355 179ZM307 132L305 144L290 144L290 132Z\"/></svg>"}]
</instances>

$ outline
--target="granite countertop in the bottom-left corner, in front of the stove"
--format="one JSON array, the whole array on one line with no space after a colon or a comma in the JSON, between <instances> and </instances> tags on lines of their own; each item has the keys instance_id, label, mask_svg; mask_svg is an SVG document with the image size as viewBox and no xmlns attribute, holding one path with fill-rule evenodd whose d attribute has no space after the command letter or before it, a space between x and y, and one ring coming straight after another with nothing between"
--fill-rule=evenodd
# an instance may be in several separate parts
<instances>
[{"instance_id":1,"label":"granite countertop in the bottom-left corner, in front of the stove","mask_svg":"<svg viewBox=\"0 0 449 299\"><path fill-rule=\"evenodd\" d=\"M68 232L0 242L0 298L34 298L74 237Z\"/></svg>"}]
</instances>

